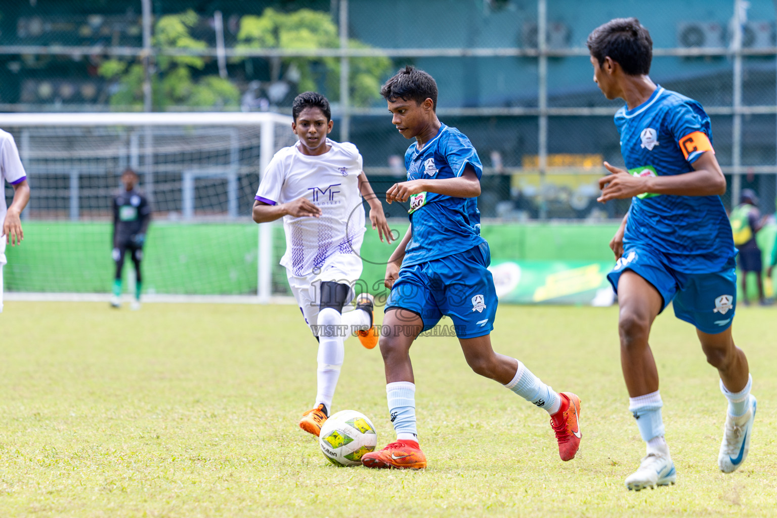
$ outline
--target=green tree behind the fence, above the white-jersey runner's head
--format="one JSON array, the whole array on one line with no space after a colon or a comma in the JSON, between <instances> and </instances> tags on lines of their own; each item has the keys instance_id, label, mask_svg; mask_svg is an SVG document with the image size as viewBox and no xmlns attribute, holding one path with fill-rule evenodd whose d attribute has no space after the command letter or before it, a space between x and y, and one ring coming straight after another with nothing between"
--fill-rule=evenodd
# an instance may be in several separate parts
<instances>
[{"instance_id":1,"label":"green tree behind the fence, above the white-jersey runner's head","mask_svg":"<svg viewBox=\"0 0 777 518\"><path fill-rule=\"evenodd\" d=\"M238 49L283 48L315 50L340 47L337 26L326 12L299 9L279 12L268 7L262 16L240 19ZM359 40L348 40L350 48L371 48ZM340 90L339 57L283 57L271 60L273 81L282 76L282 68L295 71L298 90ZM354 106L368 105L380 97L381 79L393 68L389 57L352 58L349 66L350 99Z\"/></svg>"}]
</instances>

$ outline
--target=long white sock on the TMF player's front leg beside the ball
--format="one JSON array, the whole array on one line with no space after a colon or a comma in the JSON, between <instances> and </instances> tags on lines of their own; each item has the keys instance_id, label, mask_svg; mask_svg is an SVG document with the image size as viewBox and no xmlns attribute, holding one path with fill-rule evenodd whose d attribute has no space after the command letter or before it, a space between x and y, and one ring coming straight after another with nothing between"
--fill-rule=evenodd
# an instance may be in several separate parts
<instances>
[{"instance_id":1,"label":"long white sock on the TMF player's front leg beside the ball","mask_svg":"<svg viewBox=\"0 0 777 518\"><path fill-rule=\"evenodd\" d=\"M317 324L333 326L329 330L325 327L319 328L322 329L322 332L319 335L319 355L316 358L319 368L316 373L318 393L315 395L315 405L323 403L326 406L326 411L332 415L332 399L335 395L337 380L340 378L343 356L345 356L343 333L338 331L338 326L342 324L340 313L333 308L323 308L319 311Z\"/></svg>"}]
</instances>

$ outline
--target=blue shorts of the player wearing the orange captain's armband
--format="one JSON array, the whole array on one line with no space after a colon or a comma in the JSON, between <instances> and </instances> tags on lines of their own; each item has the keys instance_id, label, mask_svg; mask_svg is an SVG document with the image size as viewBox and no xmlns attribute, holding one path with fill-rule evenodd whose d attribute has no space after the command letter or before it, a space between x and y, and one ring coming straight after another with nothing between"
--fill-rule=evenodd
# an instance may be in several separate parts
<instances>
[{"instance_id":1,"label":"blue shorts of the player wearing the orange captain's armband","mask_svg":"<svg viewBox=\"0 0 777 518\"><path fill-rule=\"evenodd\" d=\"M716 273L683 273L667 266L664 255L637 245L623 251L615 268L607 275L615 293L618 279L632 270L658 290L664 298L664 311L674 301L674 315L690 322L699 331L716 335L729 329L737 305L736 260L732 257Z\"/></svg>"}]
</instances>

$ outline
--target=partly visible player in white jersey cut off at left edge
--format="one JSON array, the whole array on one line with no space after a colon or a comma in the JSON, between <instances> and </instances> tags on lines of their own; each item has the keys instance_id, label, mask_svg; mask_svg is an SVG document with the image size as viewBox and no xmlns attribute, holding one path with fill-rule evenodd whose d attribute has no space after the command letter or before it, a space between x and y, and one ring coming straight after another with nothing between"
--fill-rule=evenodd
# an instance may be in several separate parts
<instances>
[{"instance_id":1,"label":"partly visible player in white jersey cut off at left edge","mask_svg":"<svg viewBox=\"0 0 777 518\"><path fill-rule=\"evenodd\" d=\"M0 186L5 191L5 182L13 186L13 201L11 207L5 208L5 192L0 196L0 221L2 221L2 234L0 234L0 313L2 313L2 267L5 265L5 245L12 246L22 242L24 233L22 221L19 215L30 200L30 186L27 184L27 175L24 166L19 159L19 150L13 136L7 131L0 130Z\"/></svg>"}]
</instances>

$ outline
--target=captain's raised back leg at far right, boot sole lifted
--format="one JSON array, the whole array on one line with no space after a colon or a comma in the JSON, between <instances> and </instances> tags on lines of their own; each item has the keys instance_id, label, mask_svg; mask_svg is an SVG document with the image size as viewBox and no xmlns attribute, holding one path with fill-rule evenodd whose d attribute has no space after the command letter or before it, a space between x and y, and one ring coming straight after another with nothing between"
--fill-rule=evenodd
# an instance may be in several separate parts
<instances>
[{"instance_id":1,"label":"captain's raised back leg at far right, boot sole lifted","mask_svg":"<svg viewBox=\"0 0 777 518\"><path fill-rule=\"evenodd\" d=\"M716 335L696 330L707 362L720 373L720 390L729 401L723 441L718 454L721 471L730 473L742 465L750 450L756 400L750 394L752 384L747 357L734 345L731 328Z\"/></svg>"}]
</instances>

